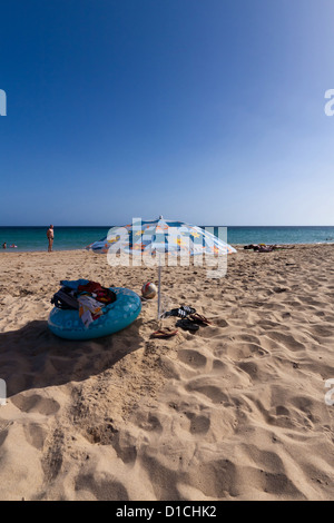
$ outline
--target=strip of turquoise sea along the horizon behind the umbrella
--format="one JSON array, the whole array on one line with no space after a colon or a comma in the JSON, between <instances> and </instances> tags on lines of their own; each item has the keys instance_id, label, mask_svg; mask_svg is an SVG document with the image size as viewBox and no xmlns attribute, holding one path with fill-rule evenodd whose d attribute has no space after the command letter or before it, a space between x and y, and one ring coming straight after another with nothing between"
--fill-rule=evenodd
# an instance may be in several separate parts
<instances>
[{"instance_id":1,"label":"strip of turquoise sea along the horizon behind the umbrella","mask_svg":"<svg viewBox=\"0 0 334 523\"><path fill-rule=\"evenodd\" d=\"M85 249L89 244L107 236L111 226L56 227L53 250ZM227 227L227 241L232 245L248 244L330 244L334 243L334 226L236 227L202 226L218 235L219 227ZM47 227L0 227L0 246L7 243L7 251L47 250ZM16 248L10 248L16 245Z\"/></svg>"}]
</instances>

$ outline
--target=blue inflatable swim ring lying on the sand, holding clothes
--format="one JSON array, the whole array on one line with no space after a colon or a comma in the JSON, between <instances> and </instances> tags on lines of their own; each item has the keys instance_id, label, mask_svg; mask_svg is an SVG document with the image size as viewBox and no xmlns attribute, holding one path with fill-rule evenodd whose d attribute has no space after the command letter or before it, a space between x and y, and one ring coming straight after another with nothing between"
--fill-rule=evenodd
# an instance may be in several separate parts
<instances>
[{"instance_id":1,"label":"blue inflatable swim ring lying on the sand, holding clothes","mask_svg":"<svg viewBox=\"0 0 334 523\"><path fill-rule=\"evenodd\" d=\"M134 290L110 287L117 295L116 302L105 307L105 314L85 327L78 310L53 307L48 319L49 329L66 339L91 339L117 333L130 325L141 310L141 300Z\"/></svg>"}]
</instances>

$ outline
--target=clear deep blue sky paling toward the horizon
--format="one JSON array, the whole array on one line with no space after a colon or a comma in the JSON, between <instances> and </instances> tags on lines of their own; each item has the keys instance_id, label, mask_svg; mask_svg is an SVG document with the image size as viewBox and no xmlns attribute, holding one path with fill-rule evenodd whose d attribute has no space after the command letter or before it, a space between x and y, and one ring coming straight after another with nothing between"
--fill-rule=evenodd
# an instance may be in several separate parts
<instances>
[{"instance_id":1,"label":"clear deep blue sky paling toward the horizon","mask_svg":"<svg viewBox=\"0 0 334 523\"><path fill-rule=\"evenodd\" d=\"M334 225L332 0L0 14L0 225Z\"/></svg>"}]
</instances>

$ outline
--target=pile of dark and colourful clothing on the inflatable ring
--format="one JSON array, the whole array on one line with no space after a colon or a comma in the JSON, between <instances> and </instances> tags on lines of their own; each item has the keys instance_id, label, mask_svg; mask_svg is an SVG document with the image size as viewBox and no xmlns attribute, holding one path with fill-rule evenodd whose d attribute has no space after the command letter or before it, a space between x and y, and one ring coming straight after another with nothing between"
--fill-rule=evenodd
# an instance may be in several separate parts
<instances>
[{"instance_id":1,"label":"pile of dark and colourful clothing on the inflatable ring","mask_svg":"<svg viewBox=\"0 0 334 523\"><path fill-rule=\"evenodd\" d=\"M116 302L116 294L97 282L62 279L60 285L51 304L57 308L78 310L86 328L104 314L107 305Z\"/></svg>"}]
</instances>

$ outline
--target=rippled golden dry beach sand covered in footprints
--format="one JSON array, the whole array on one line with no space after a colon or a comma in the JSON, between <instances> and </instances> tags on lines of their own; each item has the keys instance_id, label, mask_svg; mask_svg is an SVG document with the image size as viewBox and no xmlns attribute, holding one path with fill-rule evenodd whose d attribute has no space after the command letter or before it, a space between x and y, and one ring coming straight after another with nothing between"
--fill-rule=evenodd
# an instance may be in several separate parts
<instances>
[{"instance_id":1,"label":"rippled golden dry beach sand covered in footprints","mask_svg":"<svg viewBox=\"0 0 334 523\"><path fill-rule=\"evenodd\" d=\"M213 326L150 339L156 299L112 336L57 338L60 279L140 292L149 268L86 251L0 254L0 500L330 500L334 246L164 270L167 306ZM166 325L174 325L169 318Z\"/></svg>"}]
</instances>

